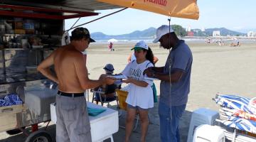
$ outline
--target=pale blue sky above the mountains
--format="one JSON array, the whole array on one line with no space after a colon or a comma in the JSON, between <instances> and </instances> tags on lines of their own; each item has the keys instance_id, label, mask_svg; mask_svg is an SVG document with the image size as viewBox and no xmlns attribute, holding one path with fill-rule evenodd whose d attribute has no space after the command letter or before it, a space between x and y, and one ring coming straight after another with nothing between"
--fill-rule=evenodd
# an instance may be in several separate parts
<instances>
[{"instance_id":1,"label":"pale blue sky above the mountains","mask_svg":"<svg viewBox=\"0 0 256 142\"><path fill-rule=\"evenodd\" d=\"M198 0L199 19L171 18L171 24L178 24L183 28L228 28L233 31L247 33L256 31L256 0ZM80 18L76 25L100 18L119 9L95 11L99 16ZM112 16L107 16L83 26L90 33L102 32L107 35L119 35L143 31L147 28L158 28L168 25L169 17L149 11L126 9ZM65 21L65 29L69 29L77 18Z\"/></svg>"}]
</instances>

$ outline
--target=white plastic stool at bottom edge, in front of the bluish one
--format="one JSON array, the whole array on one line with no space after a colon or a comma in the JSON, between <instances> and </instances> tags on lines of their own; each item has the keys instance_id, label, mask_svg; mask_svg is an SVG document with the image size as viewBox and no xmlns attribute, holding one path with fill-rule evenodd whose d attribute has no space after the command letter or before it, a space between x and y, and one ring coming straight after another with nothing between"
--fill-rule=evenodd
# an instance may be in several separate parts
<instances>
[{"instance_id":1,"label":"white plastic stool at bottom edge, in front of the bluish one","mask_svg":"<svg viewBox=\"0 0 256 142\"><path fill-rule=\"evenodd\" d=\"M224 130L219 126L203 124L196 127L193 142L225 142Z\"/></svg>"}]
</instances>

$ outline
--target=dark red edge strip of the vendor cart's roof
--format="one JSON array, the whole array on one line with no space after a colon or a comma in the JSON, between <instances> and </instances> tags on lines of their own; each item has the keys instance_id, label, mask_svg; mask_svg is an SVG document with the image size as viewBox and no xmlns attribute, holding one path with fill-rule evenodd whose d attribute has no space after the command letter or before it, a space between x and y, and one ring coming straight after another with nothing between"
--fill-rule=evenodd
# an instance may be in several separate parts
<instances>
[{"instance_id":1,"label":"dark red edge strip of the vendor cart's roof","mask_svg":"<svg viewBox=\"0 0 256 142\"><path fill-rule=\"evenodd\" d=\"M0 10L0 15L2 16L48 18L48 19L59 19L59 20L64 20L68 18L79 18L79 17L85 17L85 16L96 16L99 14L94 12L70 11L70 10L63 10L63 9L46 9L46 8L31 7L31 6L0 5L0 8L8 9L8 10ZM48 14L47 13L28 13L27 11L48 12ZM58 15L55 13L73 13L73 14L64 16L64 15Z\"/></svg>"}]
</instances>

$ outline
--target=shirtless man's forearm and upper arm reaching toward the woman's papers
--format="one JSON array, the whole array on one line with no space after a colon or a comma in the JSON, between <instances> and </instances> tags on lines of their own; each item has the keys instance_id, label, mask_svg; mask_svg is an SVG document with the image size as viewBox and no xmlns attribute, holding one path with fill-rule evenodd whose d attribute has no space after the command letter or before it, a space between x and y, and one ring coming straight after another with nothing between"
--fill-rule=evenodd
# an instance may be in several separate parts
<instances>
[{"instance_id":1,"label":"shirtless man's forearm and upper arm reaching toward the woman's papers","mask_svg":"<svg viewBox=\"0 0 256 142\"><path fill-rule=\"evenodd\" d=\"M78 75L78 80L82 89L90 89L100 86L101 84L113 84L114 80L106 77L102 77L100 80L90 80L88 78L87 67L85 66L85 60L83 60L82 53L75 55L75 72Z\"/></svg>"}]
</instances>

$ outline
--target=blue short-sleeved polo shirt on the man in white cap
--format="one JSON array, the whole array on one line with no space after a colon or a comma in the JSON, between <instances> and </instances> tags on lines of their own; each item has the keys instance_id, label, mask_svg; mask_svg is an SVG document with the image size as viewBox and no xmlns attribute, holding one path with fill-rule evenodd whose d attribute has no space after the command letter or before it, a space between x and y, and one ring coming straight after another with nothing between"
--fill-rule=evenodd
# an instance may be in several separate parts
<instances>
[{"instance_id":1,"label":"blue short-sleeved polo shirt on the man in white cap","mask_svg":"<svg viewBox=\"0 0 256 142\"><path fill-rule=\"evenodd\" d=\"M190 92L191 66L193 56L190 48L184 40L179 40L178 44L171 49L164 66L164 74L169 74L179 70L183 72L181 80L171 84L170 82L161 81L159 102L171 106L180 106L188 102L188 93Z\"/></svg>"}]
</instances>

